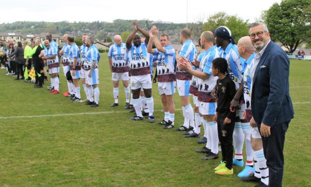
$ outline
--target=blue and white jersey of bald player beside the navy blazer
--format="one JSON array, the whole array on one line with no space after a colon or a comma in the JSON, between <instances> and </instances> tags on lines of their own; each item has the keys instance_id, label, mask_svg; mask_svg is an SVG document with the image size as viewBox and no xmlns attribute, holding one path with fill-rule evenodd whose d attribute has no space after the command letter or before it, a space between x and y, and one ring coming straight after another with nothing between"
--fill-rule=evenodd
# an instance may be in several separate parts
<instances>
[{"instance_id":1,"label":"blue and white jersey of bald player beside the navy blazer","mask_svg":"<svg viewBox=\"0 0 311 187\"><path fill-rule=\"evenodd\" d=\"M248 109L250 108L250 96L251 96L251 84L253 80L253 72L256 69L257 64L254 64L254 57L256 53L253 53L246 61L247 66L243 75L243 88L244 88L244 100Z\"/></svg>"}]
</instances>

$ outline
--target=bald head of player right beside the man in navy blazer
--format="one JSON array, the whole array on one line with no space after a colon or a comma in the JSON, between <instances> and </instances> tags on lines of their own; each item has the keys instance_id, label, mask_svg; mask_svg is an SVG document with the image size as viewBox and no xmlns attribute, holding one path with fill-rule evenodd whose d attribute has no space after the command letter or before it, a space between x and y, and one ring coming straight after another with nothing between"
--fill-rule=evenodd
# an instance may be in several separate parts
<instances>
[{"instance_id":1,"label":"bald head of player right beside the man in navy blazer","mask_svg":"<svg viewBox=\"0 0 311 187\"><path fill-rule=\"evenodd\" d=\"M242 58L246 60L249 59L250 55L253 54L255 50L249 36L244 36L238 41L238 51Z\"/></svg>"}]
</instances>

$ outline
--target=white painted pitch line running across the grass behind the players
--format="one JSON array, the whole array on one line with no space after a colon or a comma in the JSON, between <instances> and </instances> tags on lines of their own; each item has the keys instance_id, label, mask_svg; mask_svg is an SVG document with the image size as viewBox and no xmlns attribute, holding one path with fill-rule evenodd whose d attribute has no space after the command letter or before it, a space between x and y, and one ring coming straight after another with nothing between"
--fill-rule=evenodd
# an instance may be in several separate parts
<instances>
[{"instance_id":1,"label":"white painted pitch line running across the grass behind the players","mask_svg":"<svg viewBox=\"0 0 311 187\"><path fill-rule=\"evenodd\" d=\"M311 102L293 102L293 104L310 104ZM176 108L175 110L181 110L181 108ZM154 110L161 111L161 110ZM128 111L102 111L102 112L83 112L83 113L61 113L61 114L50 114L50 115L20 115L20 116L0 116L0 119L14 119L14 118L39 118L39 117L59 117L59 116L71 116L71 115L98 115L98 114L108 114L108 113L128 113Z\"/></svg>"}]
</instances>

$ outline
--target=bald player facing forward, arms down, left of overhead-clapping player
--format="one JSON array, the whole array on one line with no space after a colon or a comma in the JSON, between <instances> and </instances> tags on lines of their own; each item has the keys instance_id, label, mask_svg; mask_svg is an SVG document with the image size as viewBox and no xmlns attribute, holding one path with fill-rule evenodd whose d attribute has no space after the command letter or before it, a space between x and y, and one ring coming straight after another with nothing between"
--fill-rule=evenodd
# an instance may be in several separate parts
<instances>
[{"instance_id":1,"label":"bald player facing forward, arms down, left of overhead-clapping player","mask_svg":"<svg viewBox=\"0 0 311 187\"><path fill-rule=\"evenodd\" d=\"M129 108L129 86L128 86L128 62L126 58L126 45L122 42L120 35L114 36L114 44L108 52L109 66L112 73L115 102L111 107L119 105L119 81L122 80L125 92L125 108Z\"/></svg>"}]
</instances>

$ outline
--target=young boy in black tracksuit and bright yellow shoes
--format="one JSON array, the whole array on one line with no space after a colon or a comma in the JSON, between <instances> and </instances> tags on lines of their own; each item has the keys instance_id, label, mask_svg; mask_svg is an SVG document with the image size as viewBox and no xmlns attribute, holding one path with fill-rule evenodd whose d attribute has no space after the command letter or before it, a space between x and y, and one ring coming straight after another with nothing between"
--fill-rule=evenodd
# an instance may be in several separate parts
<instances>
[{"instance_id":1,"label":"young boy in black tracksuit and bright yellow shoes","mask_svg":"<svg viewBox=\"0 0 311 187\"><path fill-rule=\"evenodd\" d=\"M217 121L218 137L222 150L222 162L215 168L215 174L232 175L233 157L233 129L235 124L236 112L230 109L230 102L236 94L236 86L233 81L226 76L227 61L223 58L213 60L212 73L218 76L217 80L217 108L214 121Z\"/></svg>"}]
</instances>

